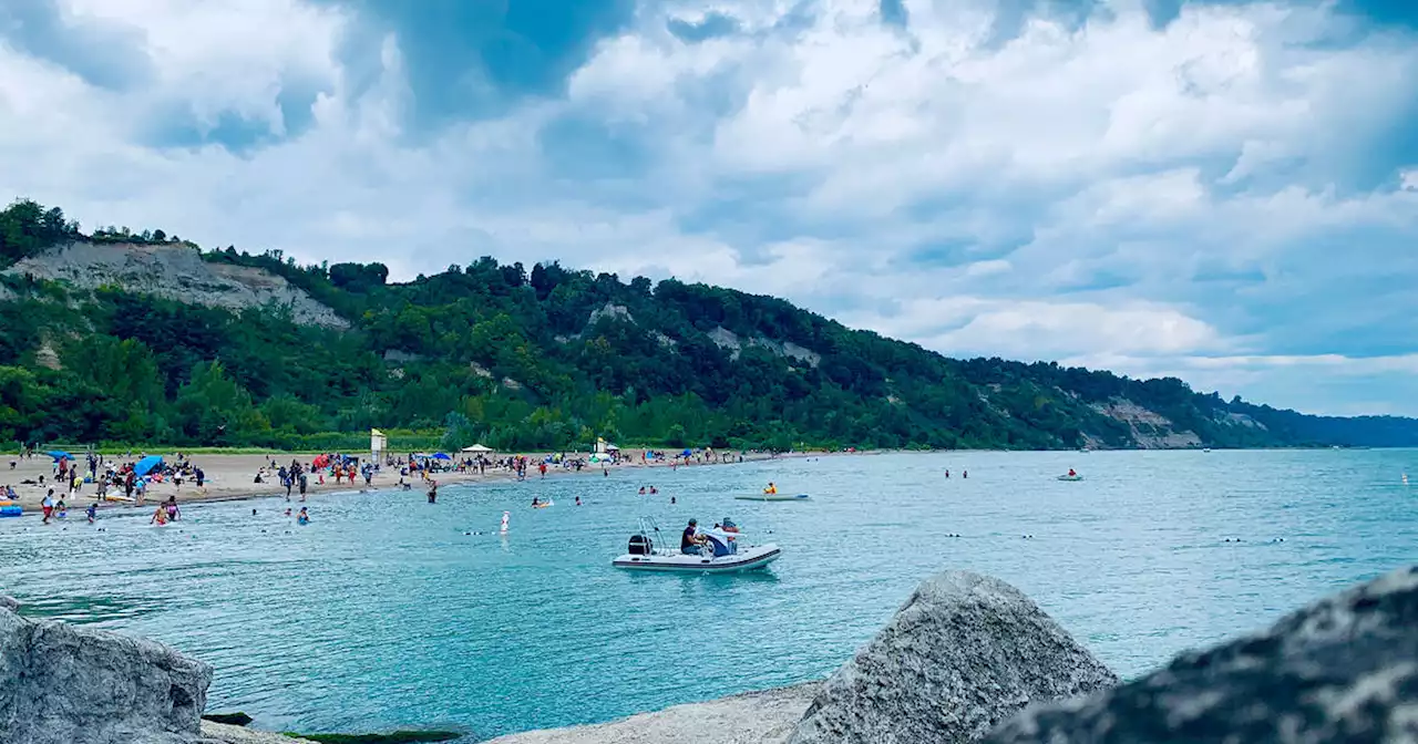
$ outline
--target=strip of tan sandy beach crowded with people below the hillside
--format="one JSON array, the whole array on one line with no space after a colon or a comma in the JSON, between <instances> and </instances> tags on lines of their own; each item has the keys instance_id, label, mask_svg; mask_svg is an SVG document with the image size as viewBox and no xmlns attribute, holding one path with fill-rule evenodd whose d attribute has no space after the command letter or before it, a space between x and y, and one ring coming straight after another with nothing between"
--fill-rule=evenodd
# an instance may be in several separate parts
<instances>
[{"instance_id":1,"label":"strip of tan sandy beach crowded with people below the hillside","mask_svg":"<svg viewBox=\"0 0 1418 744\"><path fill-rule=\"evenodd\" d=\"M610 470L634 470L634 469L657 469L657 468L671 468L674 462L682 461L641 461L642 449L624 451L624 458L618 465L604 465ZM156 453L156 452L152 452ZM174 453L162 453L167 461L176 461ZM547 453L523 453L527 461L527 478L540 478L536 469L537 462L542 462ZM743 452L743 462L754 462L771 459L773 455L764 452ZM793 452L781 453L777 458L794 458L794 456L820 456L824 452ZM84 462L84 455L75 452L79 458L79 466L86 468ZM279 479L268 472L262 483L255 482L257 473L262 468L269 468L272 461L278 465L289 465L292 459L298 459L303 463L309 463L315 455L299 453L292 455L289 452L271 452L267 455L191 455L190 462L196 463L206 472L207 482L204 487L199 489L191 480L186 480L182 486L172 482L152 483L147 487L147 495L145 497L146 505L156 505L157 502L167 500L169 496L176 496L179 503L194 503L194 502L220 502L220 500L238 500L238 499L258 499L267 496L284 496L285 487L281 486ZM115 463L129 463L138 459L135 453L132 458L123 456L105 456L105 462ZM732 459L723 461L725 465L737 463L739 452L735 452ZM708 465L720 465L718 458L706 462L691 461L689 465L679 465L681 468L703 468ZM601 475L603 465L587 465L581 470L574 470L569 468L562 468L560 465L549 465L546 476L547 478L562 478L569 475ZM85 470L86 472L86 470ZM40 485L40 476L44 476L44 483ZM478 482L495 482L495 480L510 480L516 479L516 473L503 468L488 468L486 473L479 473L478 470L469 470L465 473L459 472L440 472L434 473L432 478L440 486L448 486L454 483L478 483ZM0 486L13 486L16 496L18 496L20 505L26 512L37 512L40 509L40 502L48 489L54 487L55 499L64 497L65 506L69 509L86 509L88 505L95 503L98 499L98 486L94 483L85 483L84 489L77 495L69 495L68 487L54 483L54 461L44 453L35 453L33 458L21 458L18 455L10 453L0 461ZM349 480L336 482L333 476L325 476L325 482L320 483L318 475L309 478L309 487L306 496L315 495L329 495L329 493L350 493L360 490L380 490L393 489L398 486L398 468L384 468L383 472L374 475L369 486L360 479L353 485ZM28 483L27 483L28 482ZM425 486L417 482L414 478L414 489L424 490ZM109 489L109 493L122 493L122 490ZM292 496L292 499L299 499L299 496ZM101 509L115 509L115 507L130 507L132 505L119 502L99 502Z\"/></svg>"}]
</instances>

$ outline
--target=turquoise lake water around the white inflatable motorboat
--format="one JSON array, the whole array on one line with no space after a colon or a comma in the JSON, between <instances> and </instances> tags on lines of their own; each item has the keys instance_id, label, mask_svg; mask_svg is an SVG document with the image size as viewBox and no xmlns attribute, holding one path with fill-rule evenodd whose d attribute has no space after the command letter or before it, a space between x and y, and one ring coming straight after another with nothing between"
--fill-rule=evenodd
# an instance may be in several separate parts
<instances>
[{"instance_id":1,"label":"turquoise lake water around the white inflatable motorboat","mask_svg":"<svg viewBox=\"0 0 1418 744\"><path fill-rule=\"evenodd\" d=\"M1069 466L1086 480L1055 480ZM0 520L0 591L213 663L208 710L259 727L484 738L821 677L942 568L1015 584L1133 676L1418 558L1404 472L1418 452L864 455L322 496L306 527L278 499L163 529L26 517ZM814 500L732 500L767 480ZM732 516L786 553L761 575L617 571L640 514L671 536Z\"/></svg>"}]
</instances>

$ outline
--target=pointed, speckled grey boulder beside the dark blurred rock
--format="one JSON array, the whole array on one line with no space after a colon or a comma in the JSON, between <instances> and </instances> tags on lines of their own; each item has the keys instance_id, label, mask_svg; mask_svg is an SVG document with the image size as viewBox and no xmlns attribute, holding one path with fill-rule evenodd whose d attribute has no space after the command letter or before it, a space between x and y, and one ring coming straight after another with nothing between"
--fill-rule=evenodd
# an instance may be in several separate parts
<instances>
[{"instance_id":1,"label":"pointed, speckled grey boulder beside the dark blurred rock","mask_svg":"<svg viewBox=\"0 0 1418 744\"><path fill-rule=\"evenodd\" d=\"M974 741L1029 701L1116 683L1014 587L946 571L827 680L790 743Z\"/></svg>"}]
</instances>

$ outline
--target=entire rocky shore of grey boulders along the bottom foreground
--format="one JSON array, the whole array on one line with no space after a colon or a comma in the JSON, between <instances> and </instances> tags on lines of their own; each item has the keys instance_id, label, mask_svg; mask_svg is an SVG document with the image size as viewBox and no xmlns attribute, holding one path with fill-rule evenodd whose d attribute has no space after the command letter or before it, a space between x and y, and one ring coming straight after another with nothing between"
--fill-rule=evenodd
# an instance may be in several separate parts
<instances>
[{"instance_id":1,"label":"entire rocky shore of grey boulders along the bottom foreground","mask_svg":"<svg viewBox=\"0 0 1418 744\"><path fill-rule=\"evenodd\" d=\"M0 741L291 744L201 721L211 667L0 598ZM1418 565L1120 684L1022 592L926 580L822 683L496 744L1418 743Z\"/></svg>"}]
</instances>

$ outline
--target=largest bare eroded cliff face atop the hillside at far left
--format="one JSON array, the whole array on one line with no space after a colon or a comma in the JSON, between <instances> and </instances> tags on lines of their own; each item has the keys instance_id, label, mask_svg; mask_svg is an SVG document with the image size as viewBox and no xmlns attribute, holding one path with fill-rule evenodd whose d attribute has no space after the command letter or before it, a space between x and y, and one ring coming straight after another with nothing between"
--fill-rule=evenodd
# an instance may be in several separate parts
<instances>
[{"instance_id":1,"label":"largest bare eroded cliff face atop the hillside at far left","mask_svg":"<svg viewBox=\"0 0 1418 744\"><path fill-rule=\"evenodd\" d=\"M349 327L347 320L285 278L250 266L210 264L183 244L71 242L20 261L6 274L64 281L81 289L116 285L129 292L228 310L275 305L288 308L301 325Z\"/></svg>"}]
</instances>

